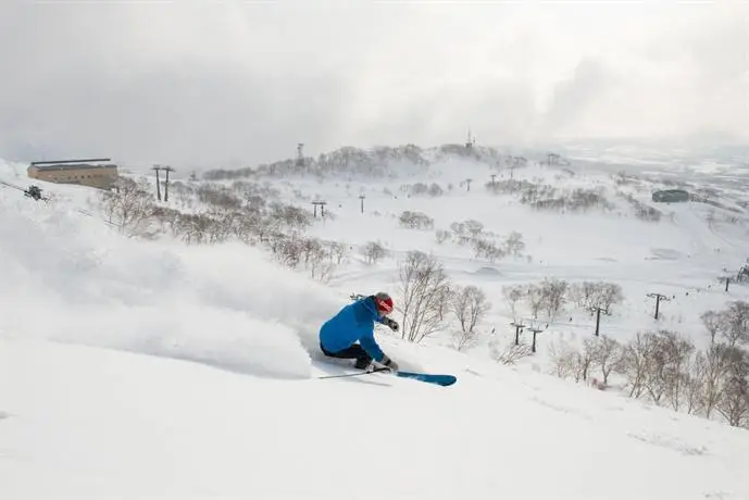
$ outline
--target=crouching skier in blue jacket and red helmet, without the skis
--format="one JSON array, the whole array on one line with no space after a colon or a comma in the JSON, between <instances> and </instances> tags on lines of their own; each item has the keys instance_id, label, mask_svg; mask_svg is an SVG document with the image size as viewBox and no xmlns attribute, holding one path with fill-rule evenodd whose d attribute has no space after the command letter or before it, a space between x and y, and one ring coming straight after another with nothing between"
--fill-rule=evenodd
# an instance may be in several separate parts
<instances>
[{"instance_id":1,"label":"crouching skier in blue jacket and red helmet, without the skis","mask_svg":"<svg viewBox=\"0 0 749 500\"><path fill-rule=\"evenodd\" d=\"M370 371L378 364L397 372L398 364L374 339L375 322L398 332L398 323L387 317L392 309L392 299L382 291L346 305L320 328L320 348L330 358L355 359L359 370Z\"/></svg>"}]
</instances>

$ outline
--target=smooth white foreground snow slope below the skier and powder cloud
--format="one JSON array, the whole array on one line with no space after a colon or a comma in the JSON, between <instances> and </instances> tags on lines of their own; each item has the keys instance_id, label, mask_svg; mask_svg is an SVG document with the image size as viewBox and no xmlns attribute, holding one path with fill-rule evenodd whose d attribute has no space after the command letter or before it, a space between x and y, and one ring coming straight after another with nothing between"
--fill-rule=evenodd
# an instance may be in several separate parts
<instances>
[{"instance_id":1,"label":"smooth white foreground snow slope below the skier and powder cloud","mask_svg":"<svg viewBox=\"0 0 749 500\"><path fill-rule=\"evenodd\" d=\"M284 382L18 340L0 375L3 498L749 495L746 432L509 370Z\"/></svg>"}]
</instances>

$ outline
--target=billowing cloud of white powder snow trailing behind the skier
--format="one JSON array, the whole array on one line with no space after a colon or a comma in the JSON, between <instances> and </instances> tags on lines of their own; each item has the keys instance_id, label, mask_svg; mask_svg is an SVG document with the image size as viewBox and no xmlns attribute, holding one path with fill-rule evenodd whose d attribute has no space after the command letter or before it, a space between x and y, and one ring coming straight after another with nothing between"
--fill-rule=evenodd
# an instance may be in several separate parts
<instances>
[{"instance_id":1,"label":"billowing cloud of white powder snow trailing behind the skier","mask_svg":"<svg viewBox=\"0 0 749 500\"><path fill-rule=\"evenodd\" d=\"M99 221L23 199L3 197L0 240L2 332L17 338L300 377L310 366L300 338L316 334L301 328L337 305L257 249L227 245L216 255L122 239Z\"/></svg>"}]
</instances>

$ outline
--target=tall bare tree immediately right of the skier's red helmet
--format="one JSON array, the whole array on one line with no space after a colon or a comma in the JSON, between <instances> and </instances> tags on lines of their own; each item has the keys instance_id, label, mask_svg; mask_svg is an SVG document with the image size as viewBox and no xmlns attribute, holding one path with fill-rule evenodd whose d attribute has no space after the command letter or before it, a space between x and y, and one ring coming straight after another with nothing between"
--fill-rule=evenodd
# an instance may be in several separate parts
<instances>
[{"instance_id":1,"label":"tall bare tree immediately right of the skier's red helmet","mask_svg":"<svg viewBox=\"0 0 749 500\"><path fill-rule=\"evenodd\" d=\"M401 337L420 342L439 330L450 295L450 282L434 255L410 251L400 271Z\"/></svg>"}]
</instances>

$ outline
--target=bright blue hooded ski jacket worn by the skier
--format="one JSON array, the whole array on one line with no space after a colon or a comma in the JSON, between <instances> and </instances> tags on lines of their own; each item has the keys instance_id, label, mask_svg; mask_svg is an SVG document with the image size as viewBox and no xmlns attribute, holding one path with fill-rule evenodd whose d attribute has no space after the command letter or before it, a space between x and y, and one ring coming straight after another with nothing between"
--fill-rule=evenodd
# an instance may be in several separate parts
<instances>
[{"instance_id":1,"label":"bright blue hooded ski jacket worn by the skier","mask_svg":"<svg viewBox=\"0 0 749 500\"><path fill-rule=\"evenodd\" d=\"M346 305L338 314L326 321L320 328L320 345L329 352L337 352L357 341L375 361L385 354L374 339L374 324L382 323L383 316L372 297Z\"/></svg>"}]
</instances>

